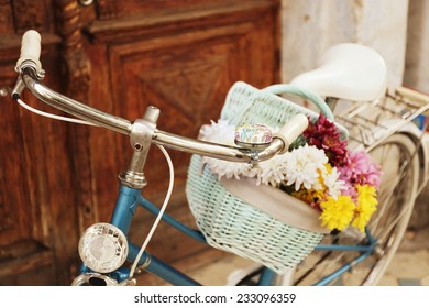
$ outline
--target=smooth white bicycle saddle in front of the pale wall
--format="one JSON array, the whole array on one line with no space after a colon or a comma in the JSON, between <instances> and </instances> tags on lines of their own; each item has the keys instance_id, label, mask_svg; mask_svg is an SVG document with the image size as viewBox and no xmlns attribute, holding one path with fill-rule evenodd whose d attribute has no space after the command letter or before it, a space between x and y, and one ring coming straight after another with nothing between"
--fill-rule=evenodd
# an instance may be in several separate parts
<instances>
[{"instance_id":1,"label":"smooth white bicycle saddle in front of the pale wall","mask_svg":"<svg viewBox=\"0 0 429 308\"><path fill-rule=\"evenodd\" d=\"M386 91L386 64L374 50L354 43L332 46L320 66L298 75L292 84L322 97L374 100Z\"/></svg>"}]
</instances>

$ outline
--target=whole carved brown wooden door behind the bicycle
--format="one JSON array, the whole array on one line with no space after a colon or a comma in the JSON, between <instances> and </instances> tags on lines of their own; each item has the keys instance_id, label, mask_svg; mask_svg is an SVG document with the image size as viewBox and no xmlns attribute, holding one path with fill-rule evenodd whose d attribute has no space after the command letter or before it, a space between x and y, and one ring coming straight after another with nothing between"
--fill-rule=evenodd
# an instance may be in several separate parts
<instances>
[{"instance_id":1,"label":"whole carved brown wooden door behind the bicycle","mask_svg":"<svg viewBox=\"0 0 429 308\"><path fill-rule=\"evenodd\" d=\"M161 130L193 138L202 123L219 117L234 81L256 87L278 81L278 1L99 0L90 7L77 2L45 1L45 11L34 10L35 19L45 22L35 28L45 42L46 81L103 111L134 120L154 105L162 111ZM9 2L0 9L16 10ZM0 40L9 44L8 56L1 56L0 86L12 87L16 37L24 28L34 28L32 22L0 25ZM38 271L51 278L36 284L69 284L78 266L79 232L110 219L117 176L131 157L129 141L102 129L40 119L8 98L1 100L0 265L10 271L0 272L0 283L32 284L35 280L26 279L26 273ZM168 212L193 226L184 194L189 155L169 153L176 182ZM167 187L167 166L155 147L148 160L144 194L160 204ZM130 232L138 244L152 221L138 212ZM150 251L185 271L219 256L165 224ZM41 253L26 263L29 268L13 275L22 255ZM43 260L46 268L38 267L36 260ZM11 280L11 276L19 278ZM151 282L143 277L139 283Z\"/></svg>"}]
</instances>

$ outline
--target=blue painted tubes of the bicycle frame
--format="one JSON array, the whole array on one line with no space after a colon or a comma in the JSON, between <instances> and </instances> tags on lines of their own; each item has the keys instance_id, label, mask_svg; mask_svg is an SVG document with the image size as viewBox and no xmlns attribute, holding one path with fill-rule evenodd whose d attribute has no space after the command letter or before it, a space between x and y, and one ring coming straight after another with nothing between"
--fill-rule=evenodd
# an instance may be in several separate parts
<instances>
[{"instance_id":1,"label":"blue painted tubes of the bicycle frame","mask_svg":"<svg viewBox=\"0 0 429 308\"><path fill-rule=\"evenodd\" d=\"M148 200L146 200L141 195L141 189L136 188L130 188L124 185L120 186L119 189L119 196L117 199L116 208L111 218L110 223L121 229L121 231L127 235L131 221L134 217L134 213L139 207L143 207L147 211L150 211L152 215L157 216L160 212L160 209L151 204ZM169 226L176 228L180 232L185 233L186 235L195 239L196 241L199 241L201 243L206 243L206 239L204 234L197 230L194 230L182 222L177 221L173 217L164 213L163 215L163 221L168 223ZM354 261L352 261L349 264L343 265L336 272L331 273L330 275L326 276L321 280L319 280L316 285L327 285L330 282L334 280L339 276L341 276L344 272L351 270L353 265L356 263L360 263L364 261L367 256L370 256L374 250L374 246L376 244L376 240L371 237L369 232L366 232L369 244L367 245L338 245L338 244L331 244L331 245L318 245L316 250L326 250L326 251L358 251L362 252L360 256L358 256ZM135 257L138 256L140 251L140 248L134 245L132 242L129 241L129 254L128 254L128 261L134 262ZM139 261L139 267L144 268L145 271L156 275L157 277L164 279L165 282L170 283L172 285L180 285L180 286L200 286L198 282L194 280L191 277L187 276L186 274L179 272L175 267L164 263L163 261L158 260L157 257L151 255L146 251L143 253ZM88 273L90 270L86 267L85 265L81 268L82 273ZM128 267L121 267L118 271L110 274L110 276L118 282L122 282L129 277L130 270ZM258 278L257 285L260 286L268 286L272 285L275 272L265 267Z\"/></svg>"}]
</instances>

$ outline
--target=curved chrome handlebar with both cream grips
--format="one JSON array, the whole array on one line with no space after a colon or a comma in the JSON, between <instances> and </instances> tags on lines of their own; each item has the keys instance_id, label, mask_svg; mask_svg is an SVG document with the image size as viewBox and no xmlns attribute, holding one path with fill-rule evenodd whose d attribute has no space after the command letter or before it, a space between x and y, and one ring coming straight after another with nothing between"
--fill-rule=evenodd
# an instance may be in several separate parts
<instances>
[{"instance_id":1,"label":"curved chrome handlebar with both cream grips","mask_svg":"<svg viewBox=\"0 0 429 308\"><path fill-rule=\"evenodd\" d=\"M12 92L12 97L14 99L18 99L21 91L24 87L26 87L40 100L56 109L125 135L133 134L134 124L138 121L131 122L127 119L106 113L44 86L41 82L41 79L44 77L44 72L38 59L40 53L40 34L33 30L28 31L23 35L21 56L16 62L15 67L20 77ZM184 138L161 131L156 129L156 123L154 124L155 129L150 132L152 134L152 143L191 154L199 154L232 162L251 163L268 160L276 154L286 152L290 143L307 128L308 119L304 114L298 114L293 118L284 128L280 129L279 134L274 135L273 141L262 150L256 147L229 146Z\"/></svg>"}]
</instances>

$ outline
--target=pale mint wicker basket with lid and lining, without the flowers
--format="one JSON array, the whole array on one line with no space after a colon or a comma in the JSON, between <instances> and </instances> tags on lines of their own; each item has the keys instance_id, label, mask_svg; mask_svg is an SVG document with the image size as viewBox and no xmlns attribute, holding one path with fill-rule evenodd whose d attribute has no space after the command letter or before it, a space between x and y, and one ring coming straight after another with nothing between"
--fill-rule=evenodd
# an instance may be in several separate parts
<instances>
[{"instance_id":1,"label":"pale mint wicker basket with lid and lining, without the flowers","mask_svg":"<svg viewBox=\"0 0 429 308\"><path fill-rule=\"evenodd\" d=\"M296 88L286 86L282 89L315 100L306 92L297 92ZM278 88L274 92L278 92ZM326 107L321 108L324 113ZM258 90L239 81L227 96L221 119L231 124L265 123L279 128L297 113L305 113L314 120L318 118L318 113L272 91ZM345 138L346 130L339 128ZM227 187L238 186L233 183L222 184L207 165L201 164L201 160L199 155L191 157L186 193L197 226L211 246L284 273L300 263L320 242L323 230L311 227L320 226L320 222L316 210L308 205L272 187L264 189L276 191L264 190L257 195L257 186L242 184L242 193L230 191L234 189ZM278 195L276 200L267 201L263 197L264 194L272 197L274 193ZM264 209L267 204L271 204L271 209L275 209L274 212ZM294 215L292 208L308 210L299 219L288 219L287 216ZM298 220L300 223L294 223Z\"/></svg>"}]
</instances>

